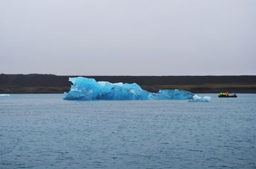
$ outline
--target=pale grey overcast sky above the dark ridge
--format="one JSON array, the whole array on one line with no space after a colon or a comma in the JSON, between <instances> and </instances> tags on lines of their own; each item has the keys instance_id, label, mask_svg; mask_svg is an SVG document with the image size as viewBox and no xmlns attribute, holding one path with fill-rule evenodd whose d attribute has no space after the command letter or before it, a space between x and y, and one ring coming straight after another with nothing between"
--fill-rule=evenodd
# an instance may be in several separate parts
<instances>
[{"instance_id":1,"label":"pale grey overcast sky above the dark ridge","mask_svg":"<svg viewBox=\"0 0 256 169\"><path fill-rule=\"evenodd\" d=\"M0 73L256 75L255 64L255 0L0 1Z\"/></svg>"}]
</instances>

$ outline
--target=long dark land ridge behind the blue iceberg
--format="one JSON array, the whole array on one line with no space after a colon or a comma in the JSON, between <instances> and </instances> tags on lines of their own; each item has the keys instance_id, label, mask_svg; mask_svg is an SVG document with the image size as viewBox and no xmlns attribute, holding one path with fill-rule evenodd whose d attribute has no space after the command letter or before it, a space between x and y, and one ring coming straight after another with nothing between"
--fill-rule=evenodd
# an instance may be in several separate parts
<instances>
[{"instance_id":1,"label":"long dark land ridge behind the blue iceberg","mask_svg":"<svg viewBox=\"0 0 256 169\"><path fill-rule=\"evenodd\" d=\"M57 75L8 75L0 74L0 94L63 93L68 92L68 77ZM143 89L182 89L194 93L256 93L256 76L82 76L112 83L137 83Z\"/></svg>"}]
</instances>

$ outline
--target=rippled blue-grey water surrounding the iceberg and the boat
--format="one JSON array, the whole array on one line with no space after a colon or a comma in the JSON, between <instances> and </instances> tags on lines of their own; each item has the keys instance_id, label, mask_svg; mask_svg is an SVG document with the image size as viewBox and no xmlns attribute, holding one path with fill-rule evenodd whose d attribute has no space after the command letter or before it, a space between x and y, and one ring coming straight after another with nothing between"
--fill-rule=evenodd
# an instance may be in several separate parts
<instances>
[{"instance_id":1,"label":"rippled blue-grey water surrounding the iceberg and the boat","mask_svg":"<svg viewBox=\"0 0 256 169\"><path fill-rule=\"evenodd\" d=\"M0 98L0 168L256 168L256 94L186 100Z\"/></svg>"}]
</instances>

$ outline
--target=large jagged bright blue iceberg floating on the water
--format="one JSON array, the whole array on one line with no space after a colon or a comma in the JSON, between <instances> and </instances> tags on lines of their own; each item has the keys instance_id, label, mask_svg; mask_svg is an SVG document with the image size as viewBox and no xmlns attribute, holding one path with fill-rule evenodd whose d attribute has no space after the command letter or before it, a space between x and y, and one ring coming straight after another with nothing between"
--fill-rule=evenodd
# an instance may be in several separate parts
<instances>
[{"instance_id":1,"label":"large jagged bright blue iceberg floating on the water","mask_svg":"<svg viewBox=\"0 0 256 169\"><path fill-rule=\"evenodd\" d=\"M188 91L160 90L157 93L141 89L138 84L111 84L96 82L93 78L69 78L73 83L69 92L65 92L63 99L95 100L95 99L193 99L195 96Z\"/></svg>"}]
</instances>

